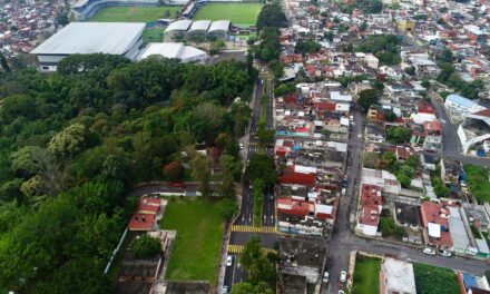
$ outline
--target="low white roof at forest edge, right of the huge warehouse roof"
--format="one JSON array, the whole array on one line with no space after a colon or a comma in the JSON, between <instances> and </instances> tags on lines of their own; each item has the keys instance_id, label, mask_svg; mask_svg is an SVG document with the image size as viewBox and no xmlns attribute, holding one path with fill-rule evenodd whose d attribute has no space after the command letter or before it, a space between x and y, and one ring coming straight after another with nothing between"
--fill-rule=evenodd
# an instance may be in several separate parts
<instances>
[{"instance_id":1,"label":"low white roof at forest edge, right of the huge warehouse roof","mask_svg":"<svg viewBox=\"0 0 490 294\"><path fill-rule=\"evenodd\" d=\"M207 59L207 53L203 50L196 49L192 46L185 46L180 42L151 42L141 51L138 60L157 55L165 58L180 59L182 62L204 63Z\"/></svg>"}]
</instances>

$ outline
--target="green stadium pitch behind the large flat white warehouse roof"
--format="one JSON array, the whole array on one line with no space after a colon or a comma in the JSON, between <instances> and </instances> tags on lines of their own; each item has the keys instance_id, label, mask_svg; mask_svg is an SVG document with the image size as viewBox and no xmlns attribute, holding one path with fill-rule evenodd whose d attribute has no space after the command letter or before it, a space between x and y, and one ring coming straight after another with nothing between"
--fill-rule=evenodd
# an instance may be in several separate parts
<instances>
[{"instance_id":1,"label":"green stadium pitch behind the large flat white warehouse roof","mask_svg":"<svg viewBox=\"0 0 490 294\"><path fill-rule=\"evenodd\" d=\"M180 9L182 7L108 7L100 9L90 21L149 22L160 18L174 18Z\"/></svg>"}]
</instances>

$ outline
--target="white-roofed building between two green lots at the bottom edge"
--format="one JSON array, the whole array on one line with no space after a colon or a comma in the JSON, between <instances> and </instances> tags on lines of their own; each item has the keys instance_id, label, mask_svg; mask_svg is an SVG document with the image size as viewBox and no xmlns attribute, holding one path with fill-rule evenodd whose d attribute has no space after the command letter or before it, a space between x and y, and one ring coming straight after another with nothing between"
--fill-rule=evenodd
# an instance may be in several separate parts
<instances>
[{"instance_id":1,"label":"white-roofed building between two green lots at the bottom edge","mask_svg":"<svg viewBox=\"0 0 490 294\"><path fill-rule=\"evenodd\" d=\"M380 294L416 294L411 263L385 257L381 264Z\"/></svg>"}]
</instances>

